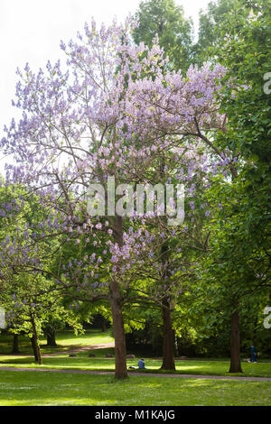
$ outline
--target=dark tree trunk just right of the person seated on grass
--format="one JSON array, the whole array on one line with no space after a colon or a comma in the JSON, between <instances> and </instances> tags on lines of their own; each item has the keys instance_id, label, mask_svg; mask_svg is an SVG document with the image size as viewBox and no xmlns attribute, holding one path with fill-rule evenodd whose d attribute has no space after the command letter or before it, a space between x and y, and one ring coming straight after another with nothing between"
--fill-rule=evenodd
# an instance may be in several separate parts
<instances>
[{"instance_id":1,"label":"dark tree trunk just right of the person seated on grass","mask_svg":"<svg viewBox=\"0 0 271 424\"><path fill-rule=\"evenodd\" d=\"M163 364L161 369L175 369L172 312L170 310L170 304L166 300L163 303Z\"/></svg>"}]
</instances>

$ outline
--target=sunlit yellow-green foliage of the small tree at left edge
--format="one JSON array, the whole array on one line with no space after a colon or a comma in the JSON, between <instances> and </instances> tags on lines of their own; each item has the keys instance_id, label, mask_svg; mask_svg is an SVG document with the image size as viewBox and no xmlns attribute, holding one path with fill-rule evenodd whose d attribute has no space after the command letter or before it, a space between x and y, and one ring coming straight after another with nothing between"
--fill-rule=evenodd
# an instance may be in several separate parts
<instances>
[{"instance_id":1,"label":"sunlit yellow-green foliage of the small tree at left edge","mask_svg":"<svg viewBox=\"0 0 271 424\"><path fill-rule=\"evenodd\" d=\"M64 322L79 331L79 316L64 308L60 287L48 272L59 241L57 237L42 236L38 224L41 217L49 219L49 212L38 198L19 186L3 185L0 203L0 240L5 241L1 305L10 331L32 337L34 325L40 337L44 327L57 328Z\"/></svg>"}]
</instances>

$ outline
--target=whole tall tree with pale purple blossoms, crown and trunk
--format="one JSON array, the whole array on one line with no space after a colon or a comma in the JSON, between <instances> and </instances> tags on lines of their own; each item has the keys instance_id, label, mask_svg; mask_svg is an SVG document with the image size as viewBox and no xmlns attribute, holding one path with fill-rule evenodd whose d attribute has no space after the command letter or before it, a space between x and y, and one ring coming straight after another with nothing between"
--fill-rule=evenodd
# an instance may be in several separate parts
<instances>
[{"instance_id":1,"label":"whole tall tree with pale purple blossoms, crown and trunk","mask_svg":"<svg viewBox=\"0 0 271 424\"><path fill-rule=\"evenodd\" d=\"M126 274L119 263L135 263L148 238L142 239L140 229L127 232L125 217L117 215L112 205L107 205L106 217L89 217L89 184L99 183L107 199L109 177L114 177L116 186L149 182L150 170L161 165L161 152L171 152L172 163L178 163L185 137L202 139L201 131L222 127L213 98L223 69L190 69L187 78L169 72L157 43L152 49L132 43L128 22L102 25L99 30L94 22L86 24L84 35L79 34L78 41L70 41L68 47L61 42L61 49L68 55L65 72L60 61L54 66L48 62L37 74L28 65L24 72L18 71L14 105L23 110L23 116L5 128L2 147L16 161L7 167L6 181L27 185L39 193L44 205L57 210L57 222L50 223L50 228L61 228L67 241L77 232L77 244L87 237L95 247L103 234L105 253L99 250L77 262L77 271L86 270L86 280L82 283L77 274L72 275L74 263L70 262L69 272L59 281L67 285L70 275L72 284L78 283L83 290L90 278L89 267L91 272L107 269L107 284L96 283L93 299L109 297L116 377L124 378ZM111 264L106 266L108 254Z\"/></svg>"}]
</instances>

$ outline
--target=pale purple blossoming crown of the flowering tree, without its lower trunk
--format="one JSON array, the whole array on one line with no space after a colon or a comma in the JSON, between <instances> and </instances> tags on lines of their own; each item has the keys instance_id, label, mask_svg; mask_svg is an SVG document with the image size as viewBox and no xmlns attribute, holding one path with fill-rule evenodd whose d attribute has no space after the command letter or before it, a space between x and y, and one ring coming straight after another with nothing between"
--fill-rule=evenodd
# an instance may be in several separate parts
<instances>
[{"instance_id":1,"label":"pale purple blossoming crown of the flowering tree, without its lower trunk","mask_svg":"<svg viewBox=\"0 0 271 424\"><path fill-rule=\"evenodd\" d=\"M98 29L92 21L84 30L77 41L61 41L68 70L62 71L58 60L37 73L28 64L17 72L14 106L23 115L5 127L0 143L15 159L6 166L6 184L23 184L50 213L36 229L25 226L13 239L6 237L2 267L13 263L41 270L47 263L38 241L50 235L95 251L61 263L57 281L65 287L103 294L112 279L126 284L138 278L138 267L146 263L152 263L156 277L160 272L175 281L185 267L174 263L182 253L161 264L158 247L169 234L169 240L182 240L188 226L169 230L157 207L153 216L135 213L128 230L123 218L109 216L106 223L89 218L87 191L92 182L105 188L110 176L126 183L183 183L189 226L199 216L209 217L202 193L220 169L227 177L233 161L227 153L214 155L206 135L224 125L217 96L225 69L205 64L182 76L170 70L157 39L151 48L135 46L129 22ZM22 205L2 205L0 216L15 214ZM151 219L156 230L150 229Z\"/></svg>"}]
</instances>

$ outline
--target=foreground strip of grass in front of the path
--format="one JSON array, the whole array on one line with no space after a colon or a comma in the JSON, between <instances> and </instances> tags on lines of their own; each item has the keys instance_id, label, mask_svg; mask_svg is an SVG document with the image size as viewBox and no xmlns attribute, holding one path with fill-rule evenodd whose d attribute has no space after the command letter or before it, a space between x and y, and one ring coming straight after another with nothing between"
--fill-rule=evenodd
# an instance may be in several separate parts
<instances>
[{"instance_id":1,"label":"foreground strip of grass in front of the path","mask_svg":"<svg viewBox=\"0 0 271 424\"><path fill-rule=\"evenodd\" d=\"M266 406L271 383L1 371L1 406Z\"/></svg>"}]
</instances>

